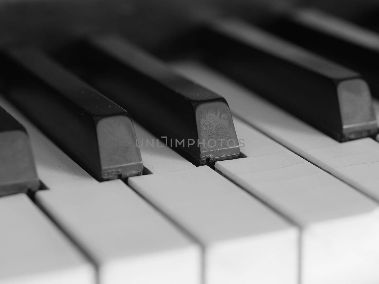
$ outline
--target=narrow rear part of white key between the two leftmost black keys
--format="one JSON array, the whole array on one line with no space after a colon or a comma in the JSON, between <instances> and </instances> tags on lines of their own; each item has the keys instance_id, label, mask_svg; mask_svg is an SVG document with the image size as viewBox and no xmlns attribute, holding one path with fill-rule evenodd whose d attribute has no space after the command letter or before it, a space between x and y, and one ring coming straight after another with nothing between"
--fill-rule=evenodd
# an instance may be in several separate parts
<instances>
[{"instance_id":1,"label":"narrow rear part of white key between the two leftmost black keys","mask_svg":"<svg viewBox=\"0 0 379 284\"><path fill-rule=\"evenodd\" d=\"M0 96L0 105L27 130L34 154L39 179L50 189L66 190L74 186L98 183L85 170L56 147L44 134L28 121L13 105Z\"/></svg>"}]
</instances>

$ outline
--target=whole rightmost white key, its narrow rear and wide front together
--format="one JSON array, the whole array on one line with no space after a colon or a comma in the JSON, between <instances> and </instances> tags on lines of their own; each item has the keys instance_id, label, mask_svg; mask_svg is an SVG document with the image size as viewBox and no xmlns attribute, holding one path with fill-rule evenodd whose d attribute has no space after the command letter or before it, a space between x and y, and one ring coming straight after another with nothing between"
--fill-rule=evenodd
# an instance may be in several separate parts
<instances>
[{"instance_id":1,"label":"whole rightmost white key, its narrow rear and wide front together","mask_svg":"<svg viewBox=\"0 0 379 284\"><path fill-rule=\"evenodd\" d=\"M372 139L338 143L230 79L197 63L173 65L191 80L223 95L234 114L304 159L379 201L379 144ZM243 137L241 137L243 139ZM346 144L346 145L345 145ZM336 153L333 161L330 156ZM340 157L337 157L341 153ZM329 156L328 156L329 155Z\"/></svg>"}]
</instances>

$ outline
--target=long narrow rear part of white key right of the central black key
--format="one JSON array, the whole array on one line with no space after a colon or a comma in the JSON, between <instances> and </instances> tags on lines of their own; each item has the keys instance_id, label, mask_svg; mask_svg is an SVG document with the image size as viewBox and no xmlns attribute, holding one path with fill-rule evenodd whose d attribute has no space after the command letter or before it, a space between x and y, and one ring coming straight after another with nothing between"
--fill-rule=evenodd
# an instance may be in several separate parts
<instances>
[{"instance_id":1,"label":"long narrow rear part of white key right of the central black key","mask_svg":"<svg viewBox=\"0 0 379 284\"><path fill-rule=\"evenodd\" d=\"M336 140L199 62L174 62L171 66L191 80L220 92L226 97L234 115L285 147L291 147L299 156L304 156L310 149L338 144Z\"/></svg>"}]
</instances>

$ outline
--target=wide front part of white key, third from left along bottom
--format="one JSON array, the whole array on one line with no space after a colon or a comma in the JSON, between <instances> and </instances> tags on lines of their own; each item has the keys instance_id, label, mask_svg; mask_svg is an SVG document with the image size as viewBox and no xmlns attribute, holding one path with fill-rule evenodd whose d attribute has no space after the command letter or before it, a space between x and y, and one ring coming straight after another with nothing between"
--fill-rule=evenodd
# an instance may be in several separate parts
<instances>
[{"instance_id":1,"label":"wide front part of white key, third from left along bottom","mask_svg":"<svg viewBox=\"0 0 379 284\"><path fill-rule=\"evenodd\" d=\"M298 230L202 166L128 179L204 248L204 283L298 283Z\"/></svg>"}]
</instances>

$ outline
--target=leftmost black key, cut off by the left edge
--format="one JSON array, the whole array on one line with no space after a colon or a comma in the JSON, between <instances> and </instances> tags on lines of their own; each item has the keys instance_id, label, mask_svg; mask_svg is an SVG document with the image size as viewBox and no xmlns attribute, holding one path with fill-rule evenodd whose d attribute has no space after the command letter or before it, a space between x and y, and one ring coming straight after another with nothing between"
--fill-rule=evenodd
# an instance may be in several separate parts
<instances>
[{"instance_id":1,"label":"leftmost black key, cut off by the left edge","mask_svg":"<svg viewBox=\"0 0 379 284\"><path fill-rule=\"evenodd\" d=\"M0 105L0 197L38 187L28 134Z\"/></svg>"}]
</instances>

